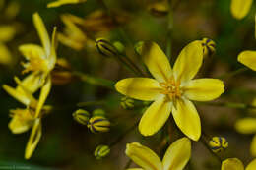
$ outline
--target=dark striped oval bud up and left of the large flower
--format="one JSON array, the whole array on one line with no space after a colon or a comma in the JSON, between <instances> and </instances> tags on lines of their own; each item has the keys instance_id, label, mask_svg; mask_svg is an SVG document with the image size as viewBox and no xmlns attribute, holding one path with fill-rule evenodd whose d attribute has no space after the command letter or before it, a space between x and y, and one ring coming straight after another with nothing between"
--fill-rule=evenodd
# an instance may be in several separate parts
<instances>
[{"instance_id":1,"label":"dark striped oval bud up and left of the large flower","mask_svg":"<svg viewBox=\"0 0 256 170\"><path fill-rule=\"evenodd\" d=\"M116 56L119 53L116 47L103 38L96 39L96 49L100 54L106 57Z\"/></svg>"}]
</instances>

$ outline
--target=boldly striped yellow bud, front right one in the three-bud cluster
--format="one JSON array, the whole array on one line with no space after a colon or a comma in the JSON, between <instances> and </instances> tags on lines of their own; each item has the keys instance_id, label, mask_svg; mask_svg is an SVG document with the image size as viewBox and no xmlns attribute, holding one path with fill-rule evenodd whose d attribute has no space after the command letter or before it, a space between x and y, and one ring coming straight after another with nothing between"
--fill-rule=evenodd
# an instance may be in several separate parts
<instances>
[{"instance_id":1,"label":"boldly striped yellow bud, front right one in the three-bud cluster","mask_svg":"<svg viewBox=\"0 0 256 170\"><path fill-rule=\"evenodd\" d=\"M88 128L92 133L105 133L110 130L110 122L103 116L94 116L89 120Z\"/></svg>"}]
</instances>

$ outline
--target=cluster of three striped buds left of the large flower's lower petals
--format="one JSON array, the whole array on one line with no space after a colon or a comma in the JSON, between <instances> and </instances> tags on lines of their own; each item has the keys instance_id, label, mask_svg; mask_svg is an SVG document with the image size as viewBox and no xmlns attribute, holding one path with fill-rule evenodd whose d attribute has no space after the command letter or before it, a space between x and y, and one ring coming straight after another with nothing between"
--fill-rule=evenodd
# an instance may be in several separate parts
<instances>
[{"instance_id":1,"label":"cluster of three striped buds left of the large flower's lower petals","mask_svg":"<svg viewBox=\"0 0 256 170\"><path fill-rule=\"evenodd\" d=\"M86 125L92 133L105 133L110 130L111 123L101 109L96 109L92 117L88 111L78 109L73 113L73 118L81 125Z\"/></svg>"}]
</instances>

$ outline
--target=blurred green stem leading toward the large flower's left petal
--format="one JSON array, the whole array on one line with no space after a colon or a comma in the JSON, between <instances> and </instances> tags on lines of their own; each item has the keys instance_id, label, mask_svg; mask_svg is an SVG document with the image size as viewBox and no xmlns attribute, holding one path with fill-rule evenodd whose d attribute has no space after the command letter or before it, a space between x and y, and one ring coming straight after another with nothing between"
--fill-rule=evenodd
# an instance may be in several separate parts
<instances>
[{"instance_id":1,"label":"blurred green stem leading toward the large flower's left petal","mask_svg":"<svg viewBox=\"0 0 256 170\"><path fill-rule=\"evenodd\" d=\"M90 76L81 72L73 72L73 75L79 77L82 81L87 82L91 85L99 85L99 86L104 86L109 89L114 89L114 82L102 78L96 78L94 76Z\"/></svg>"}]
</instances>

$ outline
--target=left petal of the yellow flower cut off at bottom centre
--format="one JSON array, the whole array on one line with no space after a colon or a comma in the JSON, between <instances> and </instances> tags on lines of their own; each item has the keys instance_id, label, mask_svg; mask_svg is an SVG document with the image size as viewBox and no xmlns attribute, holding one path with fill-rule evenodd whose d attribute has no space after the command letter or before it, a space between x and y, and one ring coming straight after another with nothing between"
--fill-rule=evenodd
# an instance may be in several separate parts
<instances>
[{"instance_id":1,"label":"left petal of the yellow flower cut off at bottom centre","mask_svg":"<svg viewBox=\"0 0 256 170\"><path fill-rule=\"evenodd\" d=\"M159 156L150 148L139 142L128 143L126 145L125 153L143 169L162 170Z\"/></svg>"}]
</instances>

